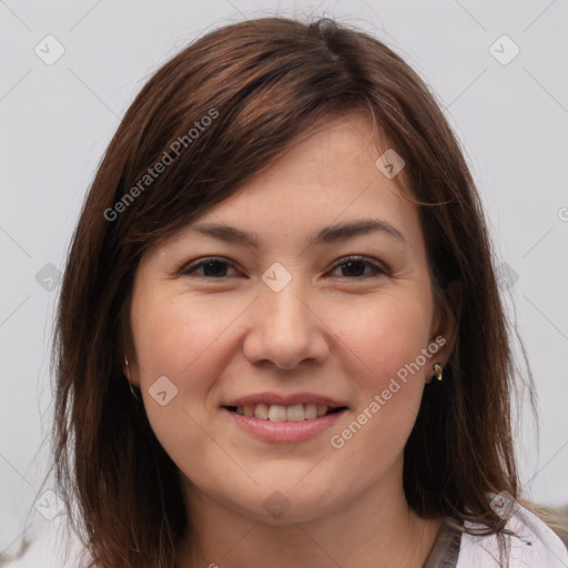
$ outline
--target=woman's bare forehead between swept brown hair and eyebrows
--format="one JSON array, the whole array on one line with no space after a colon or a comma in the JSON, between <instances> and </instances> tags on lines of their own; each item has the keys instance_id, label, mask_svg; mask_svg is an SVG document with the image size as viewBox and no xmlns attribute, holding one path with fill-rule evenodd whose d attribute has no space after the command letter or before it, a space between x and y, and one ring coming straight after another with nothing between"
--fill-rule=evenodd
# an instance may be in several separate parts
<instances>
[{"instance_id":1,"label":"woman's bare forehead between swept brown hair and eyebrows","mask_svg":"<svg viewBox=\"0 0 568 568\"><path fill-rule=\"evenodd\" d=\"M305 240L329 225L373 219L390 225L416 246L422 241L417 206L376 165L387 149L387 142L362 114L322 121L174 240L199 236L193 229L204 224L239 227L256 241Z\"/></svg>"}]
</instances>

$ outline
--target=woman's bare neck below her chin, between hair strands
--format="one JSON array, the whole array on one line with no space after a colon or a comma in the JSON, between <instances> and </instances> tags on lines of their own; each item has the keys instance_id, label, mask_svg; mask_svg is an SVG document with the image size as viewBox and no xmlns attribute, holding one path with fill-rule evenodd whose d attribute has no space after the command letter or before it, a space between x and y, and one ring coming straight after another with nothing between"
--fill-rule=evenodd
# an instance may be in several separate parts
<instances>
[{"instance_id":1,"label":"woman's bare neck below her chin, between hair strands","mask_svg":"<svg viewBox=\"0 0 568 568\"><path fill-rule=\"evenodd\" d=\"M390 476L397 483L382 480L332 513L288 524L284 515L277 525L224 507L192 487L192 529L179 549L180 567L420 568L442 518L424 519L408 507L402 464L399 474Z\"/></svg>"}]
</instances>

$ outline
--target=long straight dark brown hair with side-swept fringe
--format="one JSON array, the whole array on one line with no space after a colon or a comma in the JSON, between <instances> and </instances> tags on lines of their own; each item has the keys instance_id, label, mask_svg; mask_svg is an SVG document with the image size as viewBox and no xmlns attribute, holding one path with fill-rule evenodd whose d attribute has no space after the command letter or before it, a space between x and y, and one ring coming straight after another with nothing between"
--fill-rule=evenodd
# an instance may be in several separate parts
<instances>
[{"instance_id":1,"label":"long straight dark brown hair with side-swept fringe","mask_svg":"<svg viewBox=\"0 0 568 568\"><path fill-rule=\"evenodd\" d=\"M480 523L486 534L503 530L487 494L517 497L516 367L459 144L433 93L377 39L329 19L263 18L207 33L150 79L106 150L73 235L54 342L53 458L97 566L176 566L190 529L178 468L122 371L124 353L135 357L129 307L141 256L310 128L355 110L405 160L399 184L420 205L436 305L458 323L444 382L425 389L405 447L408 504L419 515ZM149 173L170 159L160 175Z\"/></svg>"}]
</instances>

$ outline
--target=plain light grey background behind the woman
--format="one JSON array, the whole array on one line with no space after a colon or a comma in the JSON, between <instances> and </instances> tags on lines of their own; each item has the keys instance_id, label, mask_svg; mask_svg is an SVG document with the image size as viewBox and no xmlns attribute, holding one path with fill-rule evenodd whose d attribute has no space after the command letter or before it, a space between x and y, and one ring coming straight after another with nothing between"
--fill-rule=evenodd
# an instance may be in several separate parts
<instances>
[{"instance_id":1,"label":"plain light grey background behind the woman","mask_svg":"<svg viewBox=\"0 0 568 568\"><path fill-rule=\"evenodd\" d=\"M24 529L36 538L53 526L39 514L24 525L40 489L50 487L41 481L57 288L45 290L49 280L41 285L36 275L48 263L63 270L95 168L151 73L197 36L276 10L338 17L374 33L446 109L483 195L497 257L510 267L503 281L507 305L540 399L540 440L528 407L517 436L525 491L542 504L568 504L566 0L0 0L0 552L16 552ZM48 34L65 50L52 65L34 53L38 44L48 50ZM490 52L503 34L520 49L507 64ZM495 49L513 53L503 40Z\"/></svg>"}]
</instances>

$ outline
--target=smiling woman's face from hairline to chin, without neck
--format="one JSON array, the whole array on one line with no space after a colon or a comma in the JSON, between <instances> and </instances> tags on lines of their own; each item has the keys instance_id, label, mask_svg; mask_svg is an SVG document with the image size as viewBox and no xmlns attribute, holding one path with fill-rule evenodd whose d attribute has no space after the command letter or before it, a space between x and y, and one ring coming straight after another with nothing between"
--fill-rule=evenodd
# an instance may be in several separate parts
<instances>
[{"instance_id":1,"label":"smiling woman's face from hairline to chin, without neck","mask_svg":"<svg viewBox=\"0 0 568 568\"><path fill-rule=\"evenodd\" d=\"M195 503L292 523L402 486L449 342L387 148L329 119L142 258L131 378Z\"/></svg>"}]
</instances>

